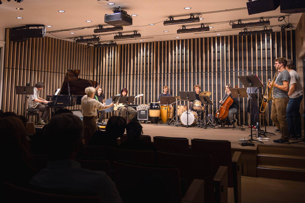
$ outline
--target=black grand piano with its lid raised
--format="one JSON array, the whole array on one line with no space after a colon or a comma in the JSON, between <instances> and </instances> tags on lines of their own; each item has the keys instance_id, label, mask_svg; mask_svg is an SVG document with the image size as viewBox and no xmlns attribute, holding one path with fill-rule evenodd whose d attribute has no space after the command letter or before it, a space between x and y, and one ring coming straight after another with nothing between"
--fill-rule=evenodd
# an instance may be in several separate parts
<instances>
[{"instance_id":1,"label":"black grand piano with its lid raised","mask_svg":"<svg viewBox=\"0 0 305 203\"><path fill-rule=\"evenodd\" d=\"M86 87L97 88L99 83L78 77L80 70L67 69L59 95L47 96L48 107L63 108L81 104L81 98L86 94Z\"/></svg>"}]
</instances>

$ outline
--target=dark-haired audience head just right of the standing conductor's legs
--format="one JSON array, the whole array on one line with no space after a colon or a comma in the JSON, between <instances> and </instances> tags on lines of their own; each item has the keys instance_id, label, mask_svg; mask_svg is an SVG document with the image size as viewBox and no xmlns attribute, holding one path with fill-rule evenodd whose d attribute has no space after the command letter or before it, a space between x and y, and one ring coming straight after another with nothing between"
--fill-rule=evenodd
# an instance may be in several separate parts
<instances>
[{"instance_id":1,"label":"dark-haired audience head just right of the standing conductor's legs","mask_svg":"<svg viewBox=\"0 0 305 203\"><path fill-rule=\"evenodd\" d=\"M121 116L111 116L106 125L106 133L110 135L113 140L121 137L126 128L126 119Z\"/></svg>"}]
</instances>

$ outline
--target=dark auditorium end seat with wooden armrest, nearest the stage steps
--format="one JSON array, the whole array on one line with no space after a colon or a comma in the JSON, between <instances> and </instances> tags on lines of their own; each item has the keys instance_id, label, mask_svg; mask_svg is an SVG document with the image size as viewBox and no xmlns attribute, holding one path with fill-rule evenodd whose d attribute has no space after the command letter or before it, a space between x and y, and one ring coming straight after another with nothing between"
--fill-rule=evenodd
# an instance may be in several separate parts
<instances>
[{"instance_id":1,"label":"dark auditorium end seat with wooden armrest, nearest the stage steps","mask_svg":"<svg viewBox=\"0 0 305 203\"><path fill-rule=\"evenodd\" d=\"M192 139L193 154L210 154L213 157L214 173L220 166L228 167L228 187L234 187L234 201L241 202L241 152L232 156L231 142L226 140Z\"/></svg>"}]
</instances>

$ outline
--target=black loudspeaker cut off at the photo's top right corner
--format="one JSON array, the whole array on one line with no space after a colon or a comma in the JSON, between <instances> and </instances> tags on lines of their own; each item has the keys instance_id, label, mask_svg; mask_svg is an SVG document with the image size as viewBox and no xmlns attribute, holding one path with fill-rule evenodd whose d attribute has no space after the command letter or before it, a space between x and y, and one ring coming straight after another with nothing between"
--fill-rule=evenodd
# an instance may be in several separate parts
<instances>
[{"instance_id":1,"label":"black loudspeaker cut off at the photo's top right corner","mask_svg":"<svg viewBox=\"0 0 305 203\"><path fill-rule=\"evenodd\" d=\"M281 13L305 12L305 0L281 0Z\"/></svg>"}]
</instances>

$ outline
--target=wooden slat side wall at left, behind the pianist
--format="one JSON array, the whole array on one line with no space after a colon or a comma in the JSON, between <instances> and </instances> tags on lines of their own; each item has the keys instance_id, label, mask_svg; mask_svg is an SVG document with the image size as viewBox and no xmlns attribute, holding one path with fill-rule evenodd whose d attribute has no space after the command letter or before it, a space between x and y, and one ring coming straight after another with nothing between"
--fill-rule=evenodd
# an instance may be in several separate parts
<instances>
[{"instance_id":1,"label":"wooden slat side wall at left, behind the pianist","mask_svg":"<svg viewBox=\"0 0 305 203\"><path fill-rule=\"evenodd\" d=\"M7 29L2 110L23 115L24 96L16 95L15 86L25 86L26 83L34 86L36 82L42 81L45 88L39 96L46 98L46 95L61 87L67 69L81 69L80 78L92 80L94 62L93 47L51 37L12 42Z\"/></svg>"}]
</instances>

